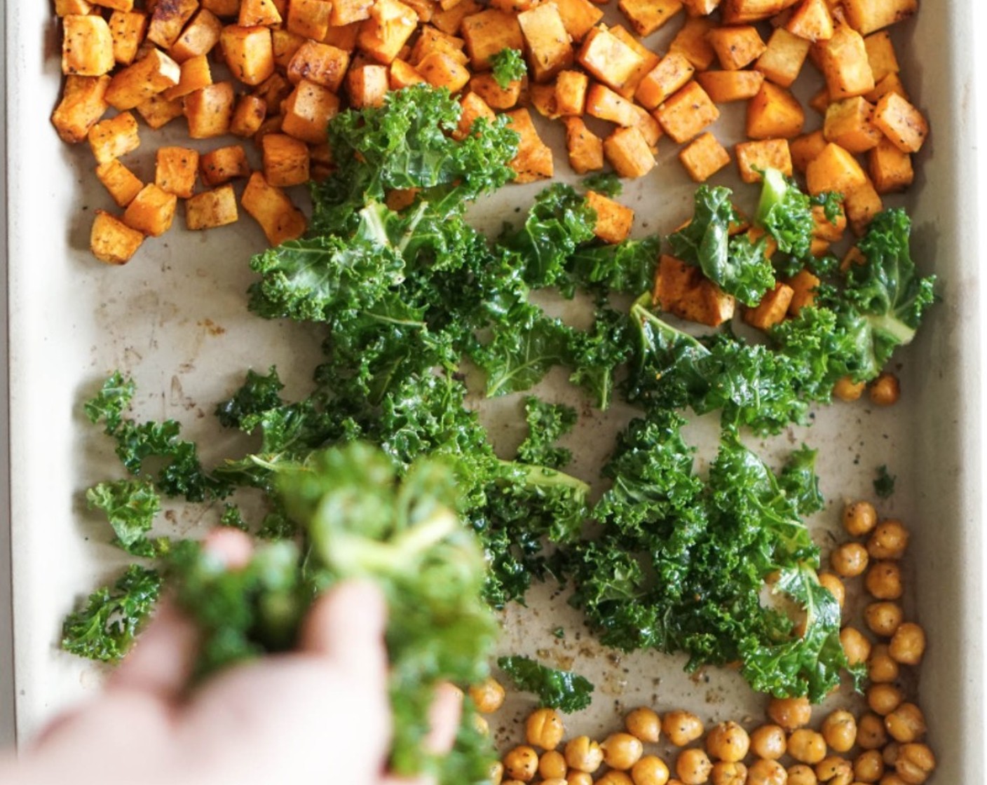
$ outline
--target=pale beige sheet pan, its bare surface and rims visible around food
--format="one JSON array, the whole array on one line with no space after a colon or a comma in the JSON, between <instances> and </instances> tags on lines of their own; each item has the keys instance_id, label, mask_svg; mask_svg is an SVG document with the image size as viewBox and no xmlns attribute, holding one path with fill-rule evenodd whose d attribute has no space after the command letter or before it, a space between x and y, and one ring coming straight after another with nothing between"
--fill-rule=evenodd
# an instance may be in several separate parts
<instances>
[{"instance_id":1,"label":"pale beige sheet pan, its bare surface and rims visible around food","mask_svg":"<svg viewBox=\"0 0 987 785\"><path fill-rule=\"evenodd\" d=\"M263 237L246 216L205 234L173 229L124 268L93 261L91 216L110 202L93 177L89 151L63 145L48 124L60 84L54 21L44 3L9 3L5 14L13 676L18 737L29 740L53 713L100 683L101 668L59 651L60 622L80 595L122 564L81 501L85 488L117 471L110 445L84 424L81 401L109 371L127 370L138 382L139 413L184 422L188 436L204 439L208 461L230 446L216 436L212 404L236 387L245 368L272 363L288 380L287 392L300 392L311 353L299 348L313 342L303 328L247 313L246 260L263 247ZM925 4L919 22L895 34L906 84L933 120L905 202L915 221L916 258L941 276L943 295L905 355L902 403L880 411L866 404L833 407L811 429L764 445L769 454L800 440L821 448L829 508L812 521L820 534L833 528L845 500L871 495L872 467L887 463L898 476L898 491L881 511L903 517L914 532L908 610L932 642L918 690L941 782L983 773L982 345L969 324L974 317L982 324L985 309L971 231L981 218L971 183L973 30L971 5L949 2ZM724 113L718 126L724 138L737 121ZM142 134L145 148L127 163L147 180L150 151L181 134L155 136L146 128ZM483 215L496 226L533 193L511 189ZM639 230L668 231L688 214L691 193L666 144L657 174L631 186L625 200L638 210ZM499 401L485 416L504 444L520 438L516 401ZM596 435L626 417L616 411L586 419L572 437L577 472L591 473L602 457L593 445L604 440ZM178 512L173 531L195 531L214 512ZM615 727L620 712L639 702L685 705L708 720L760 713L763 698L736 674L689 677L677 658L617 658L593 644L568 613L558 597L537 593L529 610L507 613L502 648L537 654L597 682L593 708L570 719L572 731ZM562 641L549 634L560 623L570 630ZM502 712L505 743L517 739L514 721L529 707L517 698Z\"/></svg>"}]
</instances>

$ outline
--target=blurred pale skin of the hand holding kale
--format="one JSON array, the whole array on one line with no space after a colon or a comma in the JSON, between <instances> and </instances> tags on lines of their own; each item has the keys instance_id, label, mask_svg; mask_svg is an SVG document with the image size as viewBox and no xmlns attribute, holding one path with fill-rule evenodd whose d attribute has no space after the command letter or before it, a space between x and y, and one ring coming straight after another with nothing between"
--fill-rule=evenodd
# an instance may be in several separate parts
<instances>
[{"instance_id":1,"label":"blurred pale skin of the hand holding kale","mask_svg":"<svg viewBox=\"0 0 987 785\"><path fill-rule=\"evenodd\" d=\"M228 564L249 558L240 532L216 534L209 547ZM298 651L231 668L189 694L195 631L163 602L98 697L57 718L20 760L0 756L0 783L407 783L385 771L385 622L377 589L341 585L313 605ZM438 691L433 749L451 746L458 704L454 688Z\"/></svg>"}]
</instances>

